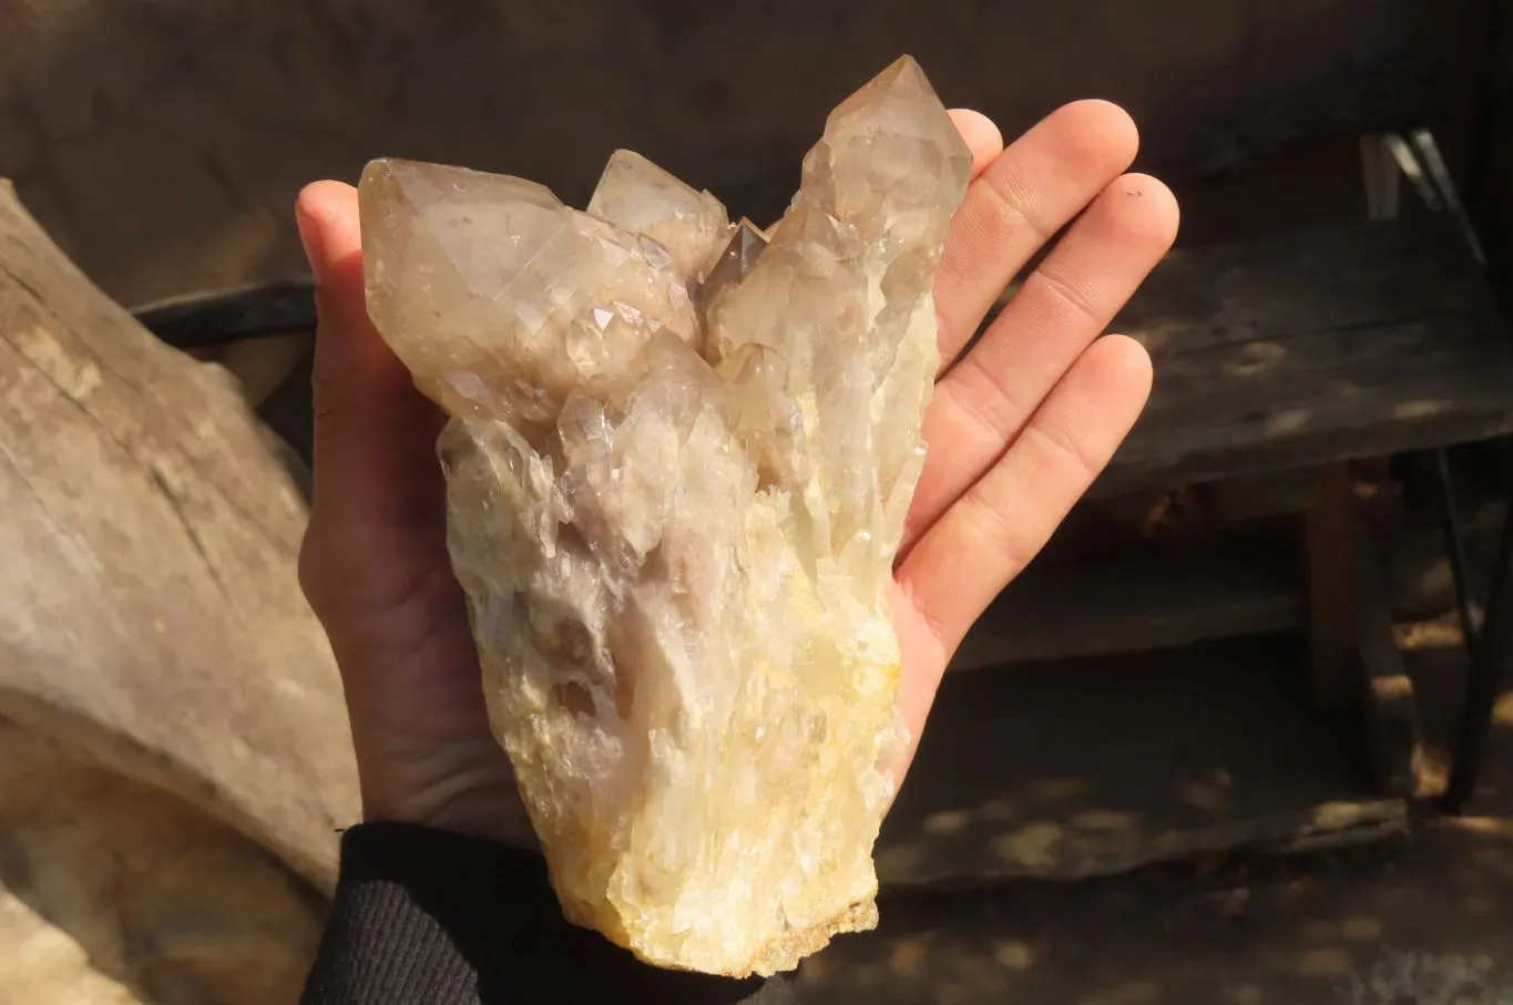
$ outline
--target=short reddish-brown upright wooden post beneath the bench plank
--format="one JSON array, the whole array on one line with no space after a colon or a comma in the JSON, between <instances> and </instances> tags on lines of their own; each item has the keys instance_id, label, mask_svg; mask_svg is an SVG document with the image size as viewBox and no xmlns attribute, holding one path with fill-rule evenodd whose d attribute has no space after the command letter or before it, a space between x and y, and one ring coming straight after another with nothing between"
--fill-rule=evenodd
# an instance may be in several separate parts
<instances>
[{"instance_id":1,"label":"short reddish-brown upright wooden post beneath the bench plank","mask_svg":"<svg viewBox=\"0 0 1513 1005\"><path fill-rule=\"evenodd\" d=\"M1313 698L1337 708L1354 664L1354 478L1350 463L1321 468L1304 524L1309 575L1309 655Z\"/></svg>"}]
</instances>

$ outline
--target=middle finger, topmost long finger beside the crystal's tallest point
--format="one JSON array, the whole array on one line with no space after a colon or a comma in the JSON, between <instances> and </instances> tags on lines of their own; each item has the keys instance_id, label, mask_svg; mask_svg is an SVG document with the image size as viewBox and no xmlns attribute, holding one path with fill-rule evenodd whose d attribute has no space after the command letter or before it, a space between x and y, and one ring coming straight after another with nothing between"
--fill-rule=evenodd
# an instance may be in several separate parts
<instances>
[{"instance_id":1,"label":"middle finger, topmost long finger beside the crystal's tallest point","mask_svg":"<svg viewBox=\"0 0 1513 1005\"><path fill-rule=\"evenodd\" d=\"M1129 170L1139 147L1130 117L1076 101L1009 144L952 219L935 275L941 366L949 366L1026 262Z\"/></svg>"}]
</instances>

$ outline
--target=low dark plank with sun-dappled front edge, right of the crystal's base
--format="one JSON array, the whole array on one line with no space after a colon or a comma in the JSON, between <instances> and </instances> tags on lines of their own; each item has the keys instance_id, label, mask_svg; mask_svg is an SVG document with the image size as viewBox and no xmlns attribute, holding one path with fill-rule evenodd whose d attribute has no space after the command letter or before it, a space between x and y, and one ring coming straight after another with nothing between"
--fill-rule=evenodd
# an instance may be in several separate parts
<instances>
[{"instance_id":1,"label":"low dark plank with sun-dappled front edge, right of the crystal's base","mask_svg":"<svg viewBox=\"0 0 1513 1005\"><path fill-rule=\"evenodd\" d=\"M1309 707L1298 640L950 674L884 823L885 888L1080 879L1407 826L1356 717Z\"/></svg>"}]
</instances>

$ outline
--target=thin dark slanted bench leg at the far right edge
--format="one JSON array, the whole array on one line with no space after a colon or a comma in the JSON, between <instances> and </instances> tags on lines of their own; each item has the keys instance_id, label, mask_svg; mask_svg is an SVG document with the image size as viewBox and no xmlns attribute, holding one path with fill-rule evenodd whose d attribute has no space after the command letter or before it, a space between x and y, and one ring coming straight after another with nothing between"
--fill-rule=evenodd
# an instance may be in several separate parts
<instances>
[{"instance_id":1,"label":"thin dark slanted bench leg at the far right edge","mask_svg":"<svg viewBox=\"0 0 1513 1005\"><path fill-rule=\"evenodd\" d=\"M1508 501L1498 542L1496 565L1492 569L1492 590L1487 596L1481 633L1472 651L1471 680L1456 736L1456 760L1445 787L1445 810L1460 813L1477 789L1481 761L1492 731L1492 714L1498 695L1513 678L1513 499Z\"/></svg>"}]
</instances>

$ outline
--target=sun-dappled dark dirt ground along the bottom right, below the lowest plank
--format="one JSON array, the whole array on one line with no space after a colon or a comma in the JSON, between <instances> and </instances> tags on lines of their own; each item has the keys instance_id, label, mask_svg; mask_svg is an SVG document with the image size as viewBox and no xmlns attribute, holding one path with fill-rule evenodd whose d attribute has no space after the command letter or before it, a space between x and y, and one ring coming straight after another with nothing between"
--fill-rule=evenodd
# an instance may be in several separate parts
<instances>
[{"instance_id":1,"label":"sun-dappled dark dirt ground along the bottom right, below the lowest plank","mask_svg":"<svg viewBox=\"0 0 1513 1005\"><path fill-rule=\"evenodd\" d=\"M1463 661L1443 649L1415 663L1433 761ZM1424 813L1407 839L1344 852L894 898L876 932L840 940L793 987L846 1005L1513 1002L1510 710L1477 817ZM1282 755L1268 737L1253 734Z\"/></svg>"}]
</instances>

